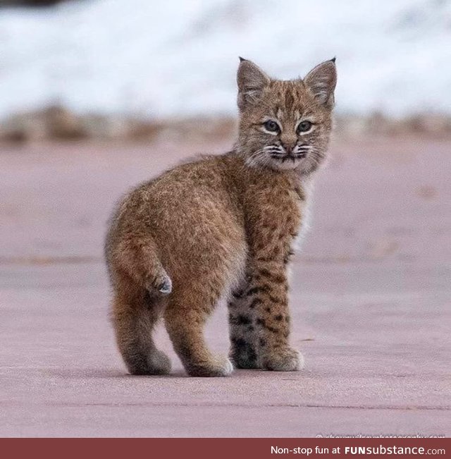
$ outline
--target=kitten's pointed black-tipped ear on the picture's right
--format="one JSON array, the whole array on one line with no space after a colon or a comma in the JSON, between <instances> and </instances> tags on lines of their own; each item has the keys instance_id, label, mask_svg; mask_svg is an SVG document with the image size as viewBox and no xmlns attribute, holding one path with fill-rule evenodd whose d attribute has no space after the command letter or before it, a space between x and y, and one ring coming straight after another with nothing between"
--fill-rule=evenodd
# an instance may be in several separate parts
<instances>
[{"instance_id":1,"label":"kitten's pointed black-tipped ear on the picture's right","mask_svg":"<svg viewBox=\"0 0 451 459\"><path fill-rule=\"evenodd\" d=\"M328 109L333 108L333 92L337 85L337 68L335 67L335 57L320 63L313 68L304 78L304 84L314 94L315 99Z\"/></svg>"}]
</instances>

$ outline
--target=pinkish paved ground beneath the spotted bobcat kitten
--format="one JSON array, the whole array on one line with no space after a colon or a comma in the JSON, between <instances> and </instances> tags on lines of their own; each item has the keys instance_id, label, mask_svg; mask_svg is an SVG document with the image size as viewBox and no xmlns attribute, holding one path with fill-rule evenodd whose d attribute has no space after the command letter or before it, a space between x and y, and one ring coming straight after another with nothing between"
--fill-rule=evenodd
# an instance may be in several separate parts
<instances>
[{"instance_id":1,"label":"pinkish paved ground beneath the spotted bobcat kitten","mask_svg":"<svg viewBox=\"0 0 451 459\"><path fill-rule=\"evenodd\" d=\"M131 377L108 319L107 216L228 145L1 147L1 436L451 434L451 141L335 142L292 278L302 372ZM208 329L227 352L224 305Z\"/></svg>"}]
</instances>

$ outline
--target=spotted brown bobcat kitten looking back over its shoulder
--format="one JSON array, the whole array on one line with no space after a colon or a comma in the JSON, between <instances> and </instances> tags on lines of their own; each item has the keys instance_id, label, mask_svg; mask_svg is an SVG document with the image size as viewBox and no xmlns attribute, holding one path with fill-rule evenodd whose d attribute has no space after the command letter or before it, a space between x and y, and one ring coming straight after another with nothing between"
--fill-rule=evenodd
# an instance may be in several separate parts
<instances>
[{"instance_id":1,"label":"spotted brown bobcat kitten looking back over its shoulder","mask_svg":"<svg viewBox=\"0 0 451 459\"><path fill-rule=\"evenodd\" d=\"M105 252L113 324L130 373L170 372L152 339L161 316L192 376L226 376L233 365L302 367L288 340L287 267L311 175L326 156L335 83L335 59L304 80L283 81L240 58L233 151L177 166L120 202ZM231 361L204 341L221 298L228 299Z\"/></svg>"}]
</instances>

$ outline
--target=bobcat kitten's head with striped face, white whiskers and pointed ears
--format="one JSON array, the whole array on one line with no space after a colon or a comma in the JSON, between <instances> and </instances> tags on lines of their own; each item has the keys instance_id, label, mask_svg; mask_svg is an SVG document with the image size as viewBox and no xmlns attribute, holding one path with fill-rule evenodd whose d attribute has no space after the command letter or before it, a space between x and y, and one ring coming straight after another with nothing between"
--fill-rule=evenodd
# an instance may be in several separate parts
<instances>
[{"instance_id":1,"label":"bobcat kitten's head with striped face, white whiskers and pointed ears","mask_svg":"<svg viewBox=\"0 0 451 459\"><path fill-rule=\"evenodd\" d=\"M240 58L237 150L249 166L315 171L326 156L332 128L335 59L301 80L273 80Z\"/></svg>"}]
</instances>

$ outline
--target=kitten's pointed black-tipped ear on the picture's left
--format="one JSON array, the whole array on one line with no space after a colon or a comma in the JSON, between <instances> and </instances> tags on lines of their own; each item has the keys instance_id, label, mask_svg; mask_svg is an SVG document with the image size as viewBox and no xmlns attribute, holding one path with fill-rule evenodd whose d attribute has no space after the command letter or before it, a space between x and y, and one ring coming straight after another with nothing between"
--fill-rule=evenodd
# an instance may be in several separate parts
<instances>
[{"instance_id":1,"label":"kitten's pointed black-tipped ear on the picture's left","mask_svg":"<svg viewBox=\"0 0 451 459\"><path fill-rule=\"evenodd\" d=\"M257 102L269 81L270 78L259 66L240 57L240 66L237 71L238 107L240 110L245 109L247 104Z\"/></svg>"}]
</instances>

